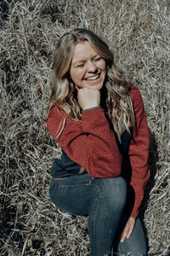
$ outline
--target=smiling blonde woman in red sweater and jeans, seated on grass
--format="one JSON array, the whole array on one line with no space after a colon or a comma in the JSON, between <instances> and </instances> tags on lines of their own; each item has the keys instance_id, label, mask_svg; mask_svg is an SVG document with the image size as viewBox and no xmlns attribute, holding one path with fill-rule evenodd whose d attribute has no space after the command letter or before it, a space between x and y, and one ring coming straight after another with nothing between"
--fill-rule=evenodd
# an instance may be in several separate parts
<instances>
[{"instance_id":1,"label":"smiling blonde woman in red sweater and jeans, seated on grass","mask_svg":"<svg viewBox=\"0 0 170 256\"><path fill-rule=\"evenodd\" d=\"M138 88L122 79L99 37L76 29L54 53L48 131L62 148L49 195L59 209L88 216L91 253L147 253L138 214L148 168L149 131Z\"/></svg>"}]
</instances>

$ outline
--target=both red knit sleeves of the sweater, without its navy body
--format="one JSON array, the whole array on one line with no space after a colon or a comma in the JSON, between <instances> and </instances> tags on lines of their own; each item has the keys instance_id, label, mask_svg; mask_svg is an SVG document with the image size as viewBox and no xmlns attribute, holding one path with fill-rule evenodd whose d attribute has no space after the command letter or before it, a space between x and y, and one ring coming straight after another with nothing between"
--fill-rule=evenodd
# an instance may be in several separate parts
<instances>
[{"instance_id":1,"label":"both red knit sleeves of the sweater, without its navy body","mask_svg":"<svg viewBox=\"0 0 170 256\"><path fill-rule=\"evenodd\" d=\"M149 131L144 113L144 105L138 88L133 85L130 91L136 117L133 139L129 145L129 158L132 166L130 184L135 193L132 215L137 217L144 197L144 187L150 177L148 168ZM49 133L56 138L59 125L66 113L54 106L48 113ZM59 129L60 130L60 129ZM65 153L92 177L117 177L122 171L122 155L102 108L82 113L82 122L65 120L65 128L56 139Z\"/></svg>"}]
</instances>

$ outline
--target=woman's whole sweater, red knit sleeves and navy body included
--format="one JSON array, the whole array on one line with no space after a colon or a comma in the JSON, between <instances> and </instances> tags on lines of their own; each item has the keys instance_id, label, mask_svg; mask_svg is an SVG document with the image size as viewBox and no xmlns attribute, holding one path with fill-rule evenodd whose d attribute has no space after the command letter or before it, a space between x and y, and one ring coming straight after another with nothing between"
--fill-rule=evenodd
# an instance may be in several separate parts
<instances>
[{"instance_id":1,"label":"woman's whole sweater, red knit sleeves and navy body included","mask_svg":"<svg viewBox=\"0 0 170 256\"><path fill-rule=\"evenodd\" d=\"M130 96L136 125L131 130L133 136L127 131L122 134L122 143L118 143L102 108L83 111L80 122L69 119L63 109L53 106L48 113L47 127L63 150L61 160L54 160L52 177L86 172L96 178L122 175L128 184L127 210L137 217L150 177L149 131L143 100L134 84Z\"/></svg>"}]
</instances>

